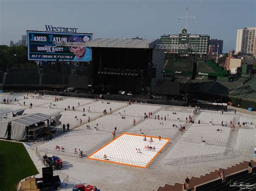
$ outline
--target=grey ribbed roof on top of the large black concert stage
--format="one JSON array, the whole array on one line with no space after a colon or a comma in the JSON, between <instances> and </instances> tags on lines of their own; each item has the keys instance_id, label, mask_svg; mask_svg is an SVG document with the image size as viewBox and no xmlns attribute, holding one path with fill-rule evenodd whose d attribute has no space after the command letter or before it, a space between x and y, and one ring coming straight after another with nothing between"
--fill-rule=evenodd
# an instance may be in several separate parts
<instances>
[{"instance_id":1,"label":"grey ribbed roof on top of the large black concert stage","mask_svg":"<svg viewBox=\"0 0 256 191\"><path fill-rule=\"evenodd\" d=\"M97 38L88 42L89 47L110 47L110 48L154 48L160 44L159 39L103 39Z\"/></svg>"}]
</instances>

